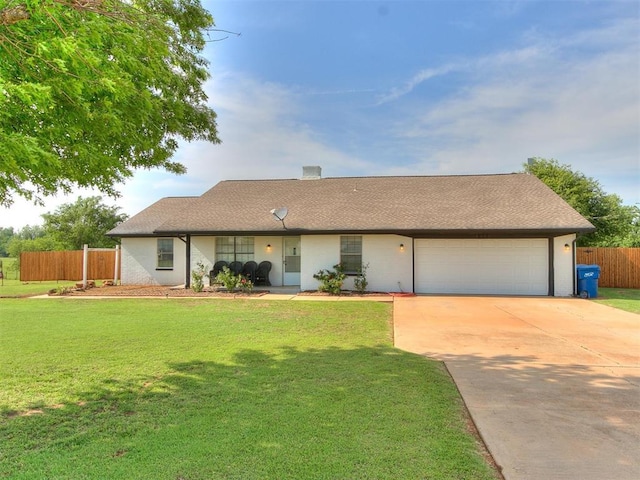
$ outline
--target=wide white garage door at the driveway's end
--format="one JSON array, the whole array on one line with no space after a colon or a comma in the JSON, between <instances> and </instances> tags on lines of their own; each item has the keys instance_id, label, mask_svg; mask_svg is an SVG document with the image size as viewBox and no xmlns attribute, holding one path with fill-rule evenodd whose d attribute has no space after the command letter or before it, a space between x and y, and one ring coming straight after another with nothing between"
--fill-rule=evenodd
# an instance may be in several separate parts
<instances>
[{"instance_id":1,"label":"wide white garage door at the driveway's end","mask_svg":"<svg viewBox=\"0 0 640 480\"><path fill-rule=\"evenodd\" d=\"M416 293L548 294L548 241L418 239Z\"/></svg>"}]
</instances>

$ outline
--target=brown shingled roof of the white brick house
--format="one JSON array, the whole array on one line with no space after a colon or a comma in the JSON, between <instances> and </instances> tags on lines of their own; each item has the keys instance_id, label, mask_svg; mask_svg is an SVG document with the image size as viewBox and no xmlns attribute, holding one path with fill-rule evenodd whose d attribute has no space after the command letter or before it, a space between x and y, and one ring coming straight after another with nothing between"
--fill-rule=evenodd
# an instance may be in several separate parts
<instances>
[{"instance_id":1,"label":"brown shingled roof of the white brick house","mask_svg":"<svg viewBox=\"0 0 640 480\"><path fill-rule=\"evenodd\" d=\"M287 207L286 230L269 213ZM399 233L531 235L594 227L533 175L228 180L200 197L165 198L112 236Z\"/></svg>"}]
</instances>

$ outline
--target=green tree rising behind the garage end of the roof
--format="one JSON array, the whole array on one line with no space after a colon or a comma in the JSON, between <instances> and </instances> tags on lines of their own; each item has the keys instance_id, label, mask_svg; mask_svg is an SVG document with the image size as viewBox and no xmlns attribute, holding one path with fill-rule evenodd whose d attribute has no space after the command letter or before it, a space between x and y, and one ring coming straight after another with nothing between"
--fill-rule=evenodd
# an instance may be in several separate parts
<instances>
[{"instance_id":1,"label":"green tree rising behind the garage end of the roof","mask_svg":"<svg viewBox=\"0 0 640 480\"><path fill-rule=\"evenodd\" d=\"M594 233L578 237L579 246L640 246L640 210L623 205L618 195L607 194L597 180L554 159L532 158L524 171L542 180L596 227Z\"/></svg>"}]
</instances>

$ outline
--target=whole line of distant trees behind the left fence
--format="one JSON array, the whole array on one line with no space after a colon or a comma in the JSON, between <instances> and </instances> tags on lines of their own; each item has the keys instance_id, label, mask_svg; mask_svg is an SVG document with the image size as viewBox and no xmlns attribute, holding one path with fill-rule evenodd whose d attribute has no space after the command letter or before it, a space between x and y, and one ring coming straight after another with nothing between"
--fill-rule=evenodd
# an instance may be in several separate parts
<instances>
[{"instance_id":1,"label":"whole line of distant trees behind the left fence","mask_svg":"<svg viewBox=\"0 0 640 480\"><path fill-rule=\"evenodd\" d=\"M105 234L125 221L120 207L102 203L101 197L79 197L53 213L42 215L43 225L27 225L20 230L0 228L0 257L20 258L22 252L80 250L87 244L94 248L111 248L116 239Z\"/></svg>"}]
</instances>

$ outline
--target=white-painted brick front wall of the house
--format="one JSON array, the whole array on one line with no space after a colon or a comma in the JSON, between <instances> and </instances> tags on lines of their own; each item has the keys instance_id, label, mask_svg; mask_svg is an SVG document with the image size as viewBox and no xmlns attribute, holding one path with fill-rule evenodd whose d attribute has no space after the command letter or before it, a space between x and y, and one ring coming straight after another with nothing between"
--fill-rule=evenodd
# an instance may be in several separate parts
<instances>
[{"instance_id":1,"label":"white-painted brick front wall of the house","mask_svg":"<svg viewBox=\"0 0 640 480\"><path fill-rule=\"evenodd\" d=\"M565 251L564 245L575 235L554 239L554 282L556 296L573 293L573 250ZM404 244L401 251L400 244ZM174 239L173 270L157 270L156 238L122 239L123 285L182 285L185 280L186 246ZM271 245L271 248L267 248ZM269 260L273 267L270 274L273 286L282 285L282 237L255 237L255 260ZM301 237L301 285L302 290L316 290L318 281L313 275L322 269L331 269L340 261L339 235L303 235ZM210 269L215 260L215 237L192 237L191 268L202 261ZM368 290L381 292L413 291L413 251L409 237L399 235L363 235L362 260L369 263ZM345 282L346 289L353 288L353 277Z\"/></svg>"}]
</instances>

